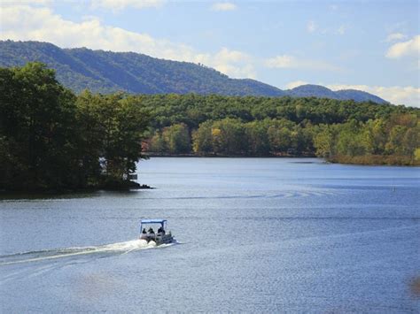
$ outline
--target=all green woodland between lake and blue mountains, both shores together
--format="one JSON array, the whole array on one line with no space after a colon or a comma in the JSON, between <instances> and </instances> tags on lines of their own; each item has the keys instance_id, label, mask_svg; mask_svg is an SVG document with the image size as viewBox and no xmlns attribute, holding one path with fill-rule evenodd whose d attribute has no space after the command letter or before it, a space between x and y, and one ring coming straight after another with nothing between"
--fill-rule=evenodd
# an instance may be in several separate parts
<instances>
[{"instance_id":1,"label":"all green woodland between lake and blue mountains, both shores together","mask_svg":"<svg viewBox=\"0 0 420 314\"><path fill-rule=\"evenodd\" d=\"M127 188L145 151L420 165L420 110L402 105L289 96L75 96L40 63L0 68L0 93L0 189Z\"/></svg>"}]
</instances>

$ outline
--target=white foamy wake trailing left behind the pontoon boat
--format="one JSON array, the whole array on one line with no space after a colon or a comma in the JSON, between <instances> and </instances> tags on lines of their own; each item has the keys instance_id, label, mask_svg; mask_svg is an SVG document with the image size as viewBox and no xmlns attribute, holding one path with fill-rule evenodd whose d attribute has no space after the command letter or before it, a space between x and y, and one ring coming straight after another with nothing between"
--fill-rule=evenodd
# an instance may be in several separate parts
<instances>
[{"instance_id":1,"label":"white foamy wake trailing left behind the pontoon boat","mask_svg":"<svg viewBox=\"0 0 420 314\"><path fill-rule=\"evenodd\" d=\"M92 247L75 247L67 249L45 249L38 251L28 251L0 256L0 266L40 262L66 257L83 257L88 255L95 255L97 257L107 257L113 255L127 254L140 249L165 248L173 244L175 243L162 244L157 247L154 241L150 241L149 243L147 243L147 241L137 239L132 241L118 242Z\"/></svg>"}]
</instances>

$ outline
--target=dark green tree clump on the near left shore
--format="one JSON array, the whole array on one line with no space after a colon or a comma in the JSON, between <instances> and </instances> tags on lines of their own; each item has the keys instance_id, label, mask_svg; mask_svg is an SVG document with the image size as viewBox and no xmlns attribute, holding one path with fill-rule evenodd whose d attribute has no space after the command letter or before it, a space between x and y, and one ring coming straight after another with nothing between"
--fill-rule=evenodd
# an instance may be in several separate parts
<instances>
[{"instance_id":1,"label":"dark green tree clump on the near left shore","mask_svg":"<svg viewBox=\"0 0 420 314\"><path fill-rule=\"evenodd\" d=\"M0 68L0 189L129 186L150 112L134 96L75 96L40 63Z\"/></svg>"}]
</instances>

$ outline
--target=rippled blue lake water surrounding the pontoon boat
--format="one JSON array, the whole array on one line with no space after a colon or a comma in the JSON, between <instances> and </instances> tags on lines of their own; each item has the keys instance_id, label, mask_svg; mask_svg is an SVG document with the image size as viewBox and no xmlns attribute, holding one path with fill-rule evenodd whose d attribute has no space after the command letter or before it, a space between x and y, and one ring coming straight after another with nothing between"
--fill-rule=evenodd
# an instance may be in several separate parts
<instances>
[{"instance_id":1,"label":"rippled blue lake water surrounding the pontoon boat","mask_svg":"<svg viewBox=\"0 0 420 314\"><path fill-rule=\"evenodd\" d=\"M3 197L2 312L420 310L419 168L153 157L138 181ZM136 240L142 218L177 243Z\"/></svg>"}]
</instances>

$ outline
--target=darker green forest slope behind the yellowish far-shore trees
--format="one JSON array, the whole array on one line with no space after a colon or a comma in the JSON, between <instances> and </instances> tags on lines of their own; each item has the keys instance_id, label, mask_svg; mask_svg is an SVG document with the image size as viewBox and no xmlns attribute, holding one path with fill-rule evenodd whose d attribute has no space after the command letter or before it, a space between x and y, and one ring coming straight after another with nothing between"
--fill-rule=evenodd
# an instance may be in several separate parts
<instances>
[{"instance_id":1,"label":"darker green forest slope behind the yellowish far-shore trees","mask_svg":"<svg viewBox=\"0 0 420 314\"><path fill-rule=\"evenodd\" d=\"M287 119L294 123L341 124L355 119L367 122L369 119L389 117L393 113L413 113L419 110L403 105L354 102L329 98L262 97L262 96L200 96L188 95L139 95L136 96L152 114L151 126L164 127L184 123L190 130L207 120L225 118L252 122L263 119Z\"/></svg>"}]
</instances>

